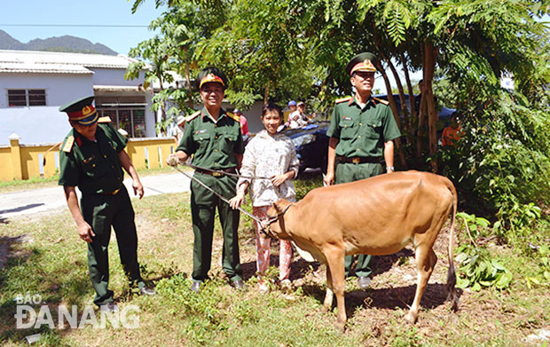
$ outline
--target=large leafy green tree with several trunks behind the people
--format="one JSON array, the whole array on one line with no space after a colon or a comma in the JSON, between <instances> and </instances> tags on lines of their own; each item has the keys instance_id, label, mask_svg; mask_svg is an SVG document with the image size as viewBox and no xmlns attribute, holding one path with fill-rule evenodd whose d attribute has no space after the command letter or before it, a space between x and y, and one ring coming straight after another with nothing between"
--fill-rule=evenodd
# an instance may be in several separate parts
<instances>
[{"instance_id":1,"label":"large leafy green tree with several trunks behind the people","mask_svg":"<svg viewBox=\"0 0 550 347\"><path fill-rule=\"evenodd\" d=\"M136 0L135 7L143 1ZM227 97L237 106L298 96L315 100L316 111L329 112L334 99L352 92L344 72L349 59L373 51L387 90L392 90L389 75L397 81L402 109L391 93L389 104L408 139L397 142L403 168L425 169L429 162L432 170L445 170L473 202L502 218L517 204L542 203L550 192L548 29L535 20L548 12L546 0L156 4L169 8L158 20L167 28L148 46L166 43L173 51L152 55L159 69L153 75L215 64L230 77ZM182 22L185 35L175 29ZM145 51L136 53L146 57ZM154 57L169 59L163 64ZM409 77L415 71L422 71L425 82L420 110L414 109ZM500 88L502 74L514 76L515 91ZM461 123L464 139L454 154L438 151L435 94L445 106L467 114ZM443 166L437 165L440 160ZM456 170L449 169L450 160L458 162Z\"/></svg>"}]
</instances>

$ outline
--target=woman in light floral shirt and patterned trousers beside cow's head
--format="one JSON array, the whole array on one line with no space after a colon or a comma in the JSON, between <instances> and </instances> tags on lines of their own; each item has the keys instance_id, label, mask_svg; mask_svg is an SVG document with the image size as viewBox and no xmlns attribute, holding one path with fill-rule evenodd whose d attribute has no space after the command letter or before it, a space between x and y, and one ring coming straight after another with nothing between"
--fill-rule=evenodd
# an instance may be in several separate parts
<instances>
[{"instance_id":1,"label":"woman in light floral shirt and patterned trousers beside cow's head","mask_svg":"<svg viewBox=\"0 0 550 347\"><path fill-rule=\"evenodd\" d=\"M267 209L279 199L295 201L295 187L292 178L298 175L298 158L295 146L290 138L279 134L277 129L283 122L282 111L275 104L267 104L262 109L262 122L265 130L250 140L245 149L240 173L243 176L271 177L271 180L240 178L237 183L237 195L230 205L237 209L249 189L253 214L262 219ZM271 239L260 234L261 226L255 222L255 244L257 250L257 269L260 273L260 290L266 291L263 275L270 266ZM292 246L290 241L280 240L279 280L288 286L290 280L290 261Z\"/></svg>"}]
</instances>

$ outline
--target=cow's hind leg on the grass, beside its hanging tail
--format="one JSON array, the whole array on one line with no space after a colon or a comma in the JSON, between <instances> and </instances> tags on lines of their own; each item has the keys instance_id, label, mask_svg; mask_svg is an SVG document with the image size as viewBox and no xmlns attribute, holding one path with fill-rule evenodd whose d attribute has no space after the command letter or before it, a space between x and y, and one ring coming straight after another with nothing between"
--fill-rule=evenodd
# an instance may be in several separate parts
<instances>
[{"instance_id":1,"label":"cow's hind leg on the grass, beside its hanging tail","mask_svg":"<svg viewBox=\"0 0 550 347\"><path fill-rule=\"evenodd\" d=\"M420 299L424 294L424 290L426 290L429 276L431 276L436 262L436 253L434 253L434 250L431 247L428 248L419 246L416 248L416 293L414 295L413 304L411 305L411 310L405 316L405 320L409 323L414 324L416 323L416 319L418 319Z\"/></svg>"}]
</instances>

